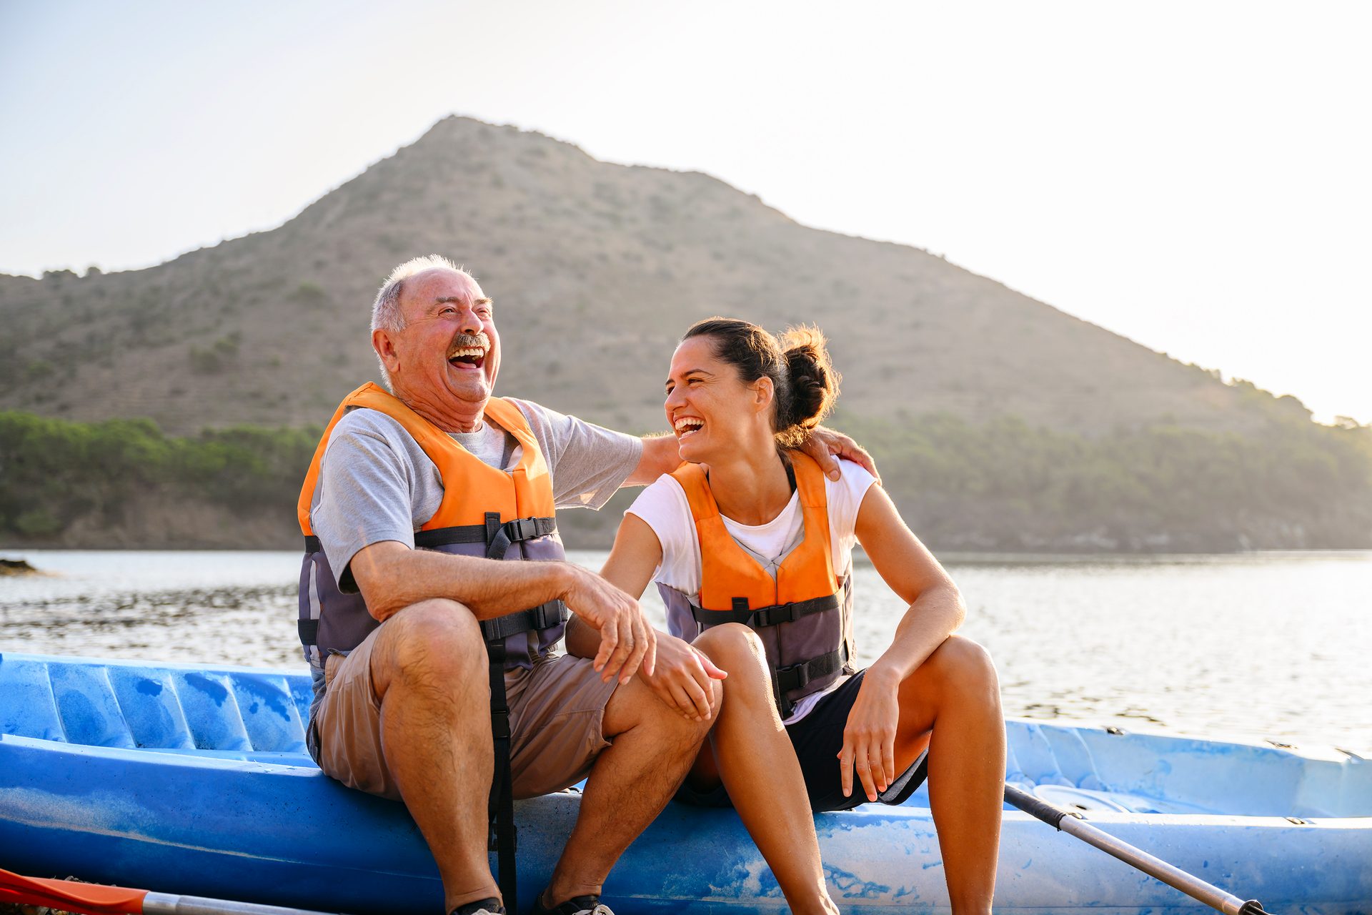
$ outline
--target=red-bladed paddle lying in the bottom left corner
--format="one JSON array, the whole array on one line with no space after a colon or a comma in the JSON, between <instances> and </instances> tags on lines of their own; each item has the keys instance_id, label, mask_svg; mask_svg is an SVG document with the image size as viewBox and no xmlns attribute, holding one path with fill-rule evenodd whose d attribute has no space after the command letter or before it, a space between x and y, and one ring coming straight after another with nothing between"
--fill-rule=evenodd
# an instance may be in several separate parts
<instances>
[{"instance_id":1,"label":"red-bladed paddle lying in the bottom left corner","mask_svg":"<svg viewBox=\"0 0 1372 915\"><path fill-rule=\"evenodd\" d=\"M85 915L324 915L303 908L232 903L199 896L150 893L75 881L21 877L0 868L0 903L47 905Z\"/></svg>"}]
</instances>

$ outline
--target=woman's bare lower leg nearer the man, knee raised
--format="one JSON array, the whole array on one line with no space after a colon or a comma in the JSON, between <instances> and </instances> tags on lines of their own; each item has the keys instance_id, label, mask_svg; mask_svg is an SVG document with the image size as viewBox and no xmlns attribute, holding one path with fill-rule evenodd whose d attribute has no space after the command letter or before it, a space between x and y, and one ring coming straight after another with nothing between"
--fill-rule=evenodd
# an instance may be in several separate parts
<instances>
[{"instance_id":1,"label":"woman's bare lower leg nearer the man, knee raised","mask_svg":"<svg viewBox=\"0 0 1372 915\"><path fill-rule=\"evenodd\" d=\"M723 680L719 720L709 734L713 759L697 760L691 783L708 783L711 763L718 765L718 778L771 866L792 912L838 912L825 886L805 778L772 702L761 642L748 627L727 623L707 630L693 645L729 671L729 678ZM767 760L766 770L759 760Z\"/></svg>"}]
</instances>

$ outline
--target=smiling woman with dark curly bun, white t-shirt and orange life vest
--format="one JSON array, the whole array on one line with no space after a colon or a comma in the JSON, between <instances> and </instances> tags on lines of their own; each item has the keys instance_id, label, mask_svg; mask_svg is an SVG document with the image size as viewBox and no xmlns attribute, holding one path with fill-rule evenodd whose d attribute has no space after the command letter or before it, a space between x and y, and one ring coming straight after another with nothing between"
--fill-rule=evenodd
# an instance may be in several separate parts
<instances>
[{"instance_id":1,"label":"smiling woman with dark curly bun, white t-shirt and orange life vest","mask_svg":"<svg viewBox=\"0 0 1372 915\"><path fill-rule=\"evenodd\" d=\"M995 668L978 645L952 634L966 612L962 595L873 476L844 461L833 482L792 450L829 412L838 380L818 329L792 329L778 342L738 320L690 328L672 355L665 402L686 464L624 514L602 575L635 597L656 580L675 637L659 641L659 671L664 643L682 657L702 652L730 680L738 671L755 693L755 669L766 665L771 701L735 701L724 680L712 753L697 760L683 794L711 803L712 792L727 790L788 900L788 879L801 886L819 872L818 851L809 870L794 834L774 833L805 820L799 844L814 848L811 808L895 793L927 749L952 908L989 912L1006 771ZM855 542L908 605L890 646L864 671L853 667ZM752 664L737 657L737 635L712 635L741 627ZM734 657L712 654L716 639L734 643ZM681 686L659 694L683 713L698 709L701 698ZM805 809L786 797L801 790ZM788 816L777 815L779 804ZM793 872L797 859L804 881Z\"/></svg>"}]
</instances>

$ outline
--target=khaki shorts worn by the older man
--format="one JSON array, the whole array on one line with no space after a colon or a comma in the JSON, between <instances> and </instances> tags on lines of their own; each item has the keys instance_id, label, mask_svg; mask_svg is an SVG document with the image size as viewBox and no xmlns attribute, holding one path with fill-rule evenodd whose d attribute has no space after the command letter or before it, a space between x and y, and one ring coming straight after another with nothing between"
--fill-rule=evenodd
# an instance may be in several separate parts
<instances>
[{"instance_id":1,"label":"khaki shorts worn by the older man","mask_svg":"<svg viewBox=\"0 0 1372 915\"><path fill-rule=\"evenodd\" d=\"M348 787L398 801L401 792L381 753L381 705L372 686L377 632L347 657L332 654L325 664L328 689L314 715L318 761ZM602 683L589 660L569 654L550 657L531 671L505 671L514 797L560 792L586 778L595 756L609 746L602 720L617 683Z\"/></svg>"}]
</instances>

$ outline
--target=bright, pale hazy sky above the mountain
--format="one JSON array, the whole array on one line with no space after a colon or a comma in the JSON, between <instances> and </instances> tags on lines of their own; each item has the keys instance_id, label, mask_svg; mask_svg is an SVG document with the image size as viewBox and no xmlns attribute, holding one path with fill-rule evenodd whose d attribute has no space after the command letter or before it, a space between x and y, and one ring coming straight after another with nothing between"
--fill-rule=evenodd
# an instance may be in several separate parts
<instances>
[{"instance_id":1,"label":"bright, pale hazy sky above the mountain","mask_svg":"<svg viewBox=\"0 0 1372 915\"><path fill-rule=\"evenodd\" d=\"M272 228L458 112L1368 423L1368 47L1362 3L0 0L0 272Z\"/></svg>"}]
</instances>

